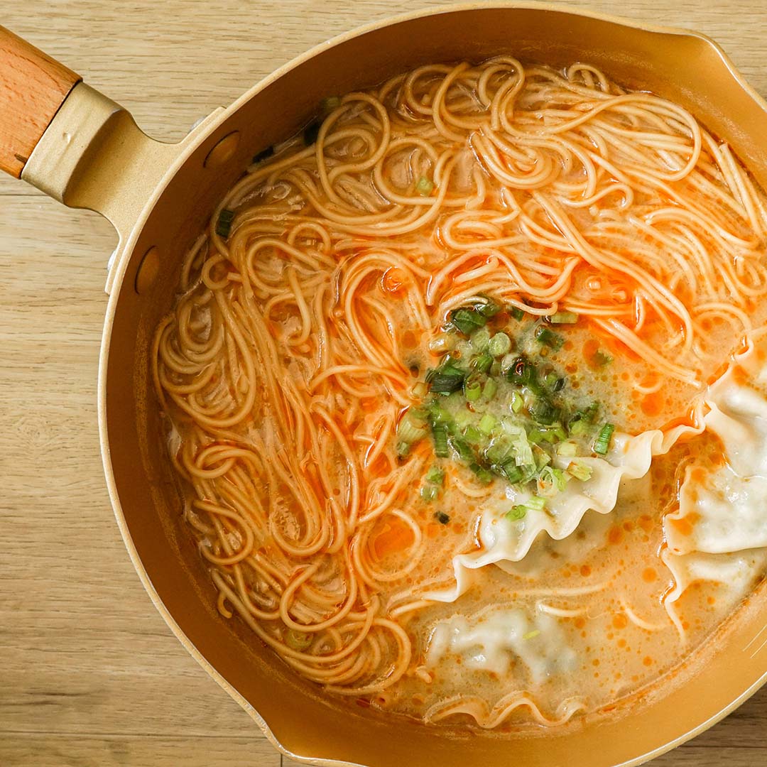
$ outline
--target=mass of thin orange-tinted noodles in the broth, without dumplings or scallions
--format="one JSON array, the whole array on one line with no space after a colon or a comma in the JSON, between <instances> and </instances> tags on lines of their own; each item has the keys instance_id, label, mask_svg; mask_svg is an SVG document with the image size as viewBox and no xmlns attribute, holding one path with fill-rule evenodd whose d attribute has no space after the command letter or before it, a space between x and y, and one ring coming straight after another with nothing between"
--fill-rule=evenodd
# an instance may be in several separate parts
<instances>
[{"instance_id":1,"label":"mass of thin orange-tinted noodles in the broth, without dumplings or scallions","mask_svg":"<svg viewBox=\"0 0 767 767\"><path fill-rule=\"evenodd\" d=\"M654 371L634 382L640 397L700 387L722 356L710 328L732 343L767 295L765 231L762 193L728 146L587 64L436 64L337 100L316 141L278 146L225 196L153 342L219 612L332 693L431 680L407 627L434 604L416 594L447 571L419 573L435 547L449 562L476 543L459 525L437 543L411 502L428 456L403 458L394 436L418 399L414 350L492 295L533 318L577 313L604 348ZM471 509L491 492L446 481ZM575 620L586 607L541 611ZM548 715L521 691L495 706L458 696L425 718L492 728L524 709L551 724L584 707Z\"/></svg>"}]
</instances>

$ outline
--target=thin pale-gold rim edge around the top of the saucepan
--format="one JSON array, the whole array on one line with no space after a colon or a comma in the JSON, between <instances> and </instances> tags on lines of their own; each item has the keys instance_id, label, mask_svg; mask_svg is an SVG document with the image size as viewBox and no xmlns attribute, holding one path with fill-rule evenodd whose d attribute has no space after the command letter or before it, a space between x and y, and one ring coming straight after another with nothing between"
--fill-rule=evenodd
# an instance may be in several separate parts
<instances>
[{"instance_id":1,"label":"thin pale-gold rim edge around the top of the saucepan","mask_svg":"<svg viewBox=\"0 0 767 767\"><path fill-rule=\"evenodd\" d=\"M563 5L562 3L514 2L514 0L510 0L510 2L502 2L502 0L499 2L499 0L492 0L492 2L466 2L458 3L456 5L439 5L435 8L425 8L404 14L387 16L386 18L380 19L378 21L373 21L369 24L361 25L350 31L343 32L340 35L335 35L333 38L330 38L327 41L314 45L312 48L308 49L308 51L304 51L304 53L299 54L295 58L292 58L285 64L281 64L281 66L275 69L275 71L272 71L272 73L268 74L266 77L263 77L262 80L255 83L239 98L232 102L229 107L226 107L223 110L219 108L219 110L216 110L212 115L210 115L205 120L205 130L201 131L199 136L196 137L198 140L187 143L185 149L179 153L179 156L176 157L172 166L170 166L170 168L165 173L162 183L160 183L160 185L154 189L151 196L146 200L146 204L144 205L140 216L138 216L135 224L133 225L133 229L130 232L130 235L125 239L124 242L120 242L119 252L116 252L114 265L112 265L110 268L110 275L107 282L110 295L104 316L104 330L102 333L99 354L97 411L101 458L104 466L104 478L106 479L107 491L109 492L110 502L114 510L117 527L120 529L120 535L122 535L123 538L123 543L127 549L128 555L130 556L130 560L133 562L133 568L135 568L137 571L140 581L143 584L143 588L145 589L146 593L149 594L151 601L156 607L156 610L163 617L163 620L173 631L173 634L176 635L176 638L183 645L189 655L191 655L194 660L199 663L199 665L209 674L209 676L216 680L219 686L221 686L222 689L226 691L226 693L229 693L229 696L231 696L236 703L239 703L239 706L242 706L242 708L245 709L249 716L251 716L255 721L256 725L262 731L266 739L272 743L272 746L274 746L275 749L277 749L278 752L280 752L282 755L285 755L289 759L293 759L296 762L311 762L315 765L322 765L322 767L344 767L344 765L348 765L348 767L365 767L365 765L360 765L356 762L344 762L337 759L318 759L311 756L298 755L290 752L287 748L285 748L285 746L283 746L281 742L275 737L265 719L263 719L255 707L252 706L248 700L246 700L245 697L242 696L242 694L239 693L234 686L232 686L231 683L225 680L225 678L216 670L216 668L213 667L208 660L206 660L206 657L204 657L202 653L197 650L195 644L189 640L189 637L184 634L183 630L181 630L173 618L173 615L161 600L160 595L157 594L157 591L154 588L149 575L146 573L146 569L144 568L143 562L140 559L137 548L133 543L133 538L130 535L130 530L128 528L122 505L120 503L120 497L117 492L117 483L115 481L114 469L110 459L109 435L107 431L107 370L109 363L112 327L114 325L114 317L117 312L117 303L120 296L120 291L123 289L123 281L127 272L127 266L130 262L130 256L133 253L133 249L137 245L139 235L143 230L143 225L149 218L157 200L160 199L160 197L163 195L167 183L170 182L170 179L173 178L179 168L183 166L189 155L193 153L193 150L196 149L196 146L199 146L199 143L202 142L202 140L205 140L205 138L212 134L220 125L222 125L222 123L225 123L225 121L228 120L230 116L235 114L235 112L237 112L243 104L255 97L256 94L263 91L266 87L275 81L278 81L289 71L301 66L311 58L314 58L322 51L326 51L328 48L337 47L338 45L344 44L353 38L366 35L367 33L376 31L377 29L397 25L405 21L412 21L418 18L427 18L431 16L446 15L459 12L498 9L555 12L561 13L563 15L590 18L594 19L595 21L607 21L627 28L634 28L639 31L653 32L660 35L676 35L684 38L698 39L703 41L709 48L713 50L713 52L716 53L717 57L726 68L732 79L736 81L739 87L741 87L742 90L752 98L752 100L754 100L757 104L759 104L760 107L762 107L765 113L767 113L767 101L765 101L759 95L759 93L755 91L754 88L748 83L748 81L746 81L746 78L738 71L735 64L733 64L732 60L729 58L728 54L726 54L723 48L716 41L714 41L713 38L710 38L708 35L698 31L686 28L645 23L644 21L627 18L624 16L601 13L588 9L573 8L570 5ZM667 753L676 748L676 746L680 746L684 742L693 739L694 737L700 735L701 732L709 729L709 727L715 725L730 713L732 713L732 711L738 708L738 706L748 700L757 690L759 690L765 684L765 682L767 682L767 673L763 674L758 680L752 683L751 686L749 686L739 696L737 696L735 700L732 700L731 703L729 703L727 706L724 706L723 709L720 709L718 713L709 717L709 719L706 719L706 721L703 723L700 723L698 726L693 727L693 729L690 729L688 732L685 732L678 738L665 743L663 746L660 746L651 752L647 752L643 755L628 759L625 762L621 762L621 764L614 765L614 767L636 767L636 765L643 764L650 759L654 759L657 756L663 755L664 753Z\"/></svg>"}]
</instances>

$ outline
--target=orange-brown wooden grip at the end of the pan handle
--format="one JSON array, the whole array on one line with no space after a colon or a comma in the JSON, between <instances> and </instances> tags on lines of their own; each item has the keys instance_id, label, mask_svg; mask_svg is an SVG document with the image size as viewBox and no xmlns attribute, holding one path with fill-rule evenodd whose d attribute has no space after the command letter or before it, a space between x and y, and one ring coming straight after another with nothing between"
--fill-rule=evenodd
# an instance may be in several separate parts
<instances>
[{"instance_id":1,"label":"orange-brown wooden grip at the end of the pan handle","mask_svg":"<svg viewBox=\"0 0 767 767\"><path fill-rule=\"evenodd\" d=\"M54 114L81 79L0 27L0 170L21 176Z\"/></svg>"}]
</instances>

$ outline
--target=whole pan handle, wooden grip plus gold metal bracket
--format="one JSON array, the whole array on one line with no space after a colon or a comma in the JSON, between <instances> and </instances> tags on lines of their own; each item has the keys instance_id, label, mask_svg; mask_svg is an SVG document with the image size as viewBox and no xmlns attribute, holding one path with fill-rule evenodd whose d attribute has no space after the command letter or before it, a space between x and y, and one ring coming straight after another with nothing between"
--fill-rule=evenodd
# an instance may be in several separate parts
<instances>
[{"instance_id":1,"label":"whole pan handle, wooden grip plus gold metal bracket","mask_svg":"<svg viewBox=\"0 0 767 767\"><path fill-rule=\"evenodd\" d=\"M101 213L120 235L118 249L219 111L180 143L153 140L120 104L0 26L0 170Z\"/></svg>"}]
</instances>

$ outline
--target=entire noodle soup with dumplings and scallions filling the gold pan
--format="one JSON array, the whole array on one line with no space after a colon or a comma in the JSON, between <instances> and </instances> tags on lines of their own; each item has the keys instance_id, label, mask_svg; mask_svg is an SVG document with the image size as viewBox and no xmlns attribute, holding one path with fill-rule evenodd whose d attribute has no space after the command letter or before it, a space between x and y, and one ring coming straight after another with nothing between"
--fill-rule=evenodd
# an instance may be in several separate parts
<instances>
[{"instance_id":1,"label":"entire noodle soup with dumplings and scallions filling the gold pan","mask_svg":"<svg viewBox=\"0 0 767 767\"><path fill-rule=\"evenodd\" d=\"M662 681L767 562L765 226L726 143L586 64L325 99L156 332L219 612L429 723Z\"/></svg>"}]
</instances>

